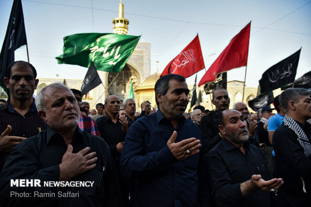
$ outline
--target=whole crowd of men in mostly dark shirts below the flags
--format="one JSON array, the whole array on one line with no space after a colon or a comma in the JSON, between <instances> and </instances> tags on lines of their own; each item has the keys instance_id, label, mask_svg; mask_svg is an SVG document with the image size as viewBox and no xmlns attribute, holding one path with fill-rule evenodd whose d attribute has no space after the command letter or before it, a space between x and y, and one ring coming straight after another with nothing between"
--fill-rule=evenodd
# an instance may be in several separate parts
<instances>
[{"instance_id":1,"label":"whole crowd of men in mostly dark shirts below the flags","mask_svg":"<svg viewBox=\"0 0 311 207\"><path fill-rule=\"evenodd\" d=\"M242 102L229 109L223 88L213 92L215 110L196 106L187 114L186 79L169 74L154 86L158 110L144 101L138 115L134 99L121 107L116 95L90 110L81 91L62 83L34 98L36 76L31 64L17 61L4 78L10 96L0 100L3 206L310 205L306 89L275 97L276 115L269 105L254 116Z\"/></svg>"}]
</instances>

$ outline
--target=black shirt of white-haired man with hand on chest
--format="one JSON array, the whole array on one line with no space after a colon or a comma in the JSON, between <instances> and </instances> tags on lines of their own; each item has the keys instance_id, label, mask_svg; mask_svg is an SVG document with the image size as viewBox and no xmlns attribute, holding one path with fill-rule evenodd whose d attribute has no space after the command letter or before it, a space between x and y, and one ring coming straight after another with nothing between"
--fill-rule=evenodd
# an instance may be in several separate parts
<instances>
[{"instance_id":1,"label":"black shirt of white-haired man with hand on chest","mask_svg":"<svg viewBox=\"0 0 311 207\"><path fill-rule=\"evenodd\" d=\"M50 127L18 144L7 159L0 180L0 203L3 206L119 206L120 191L107 144L98 136L77 127L72 141L73 153L89 146L96 152L96 167L69 181L94 181L91 187L44 186L44 181L59 180L59 164L67 150L64 138ZM41 187L10 187L10 179L40 179ZM11 192L30 193L32 197L11 196ZM35 197L35 192L55 193L52 197ZM59 197L59 192L78 193ZM77 195L77 194L76 194Z\"/></svg>"}]
</instances>

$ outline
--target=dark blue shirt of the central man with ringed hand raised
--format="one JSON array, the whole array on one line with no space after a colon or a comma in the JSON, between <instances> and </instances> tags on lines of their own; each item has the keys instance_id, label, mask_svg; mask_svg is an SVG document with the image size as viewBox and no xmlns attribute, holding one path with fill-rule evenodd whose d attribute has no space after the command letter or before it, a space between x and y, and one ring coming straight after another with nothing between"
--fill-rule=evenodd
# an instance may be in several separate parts
<instances>
[{"instance_id":1,"label":"dark blue shirt of the central man with ringed hand raised","mask_svg":"<svg viewBox=\"0 0 311 207\"><path fill-rule=\"evenodd\" d=\"M134 206L199 206L199 202L208 199L208 185L203 180L203 147L199 154L177 160L167 145L174 131L175 142L191 137L201 140L197 124L183 116L174 128L160 109L136 120L129 128L120 169L122 176L135 181Z\"/></svg>"}]
</instances>

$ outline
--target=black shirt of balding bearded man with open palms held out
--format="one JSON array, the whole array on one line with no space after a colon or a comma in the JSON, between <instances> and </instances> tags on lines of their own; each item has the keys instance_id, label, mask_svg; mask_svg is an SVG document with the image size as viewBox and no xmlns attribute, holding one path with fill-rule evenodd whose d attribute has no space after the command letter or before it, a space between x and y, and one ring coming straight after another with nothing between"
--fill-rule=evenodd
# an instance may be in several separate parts
<instances>
[{"instance_id":1,"label":"black shirt of balding bearded man with open palms held out","mask_svg":"<svg viewBox=\"0 0 311 207\"><path fill-rule=\"evenodd\" d=\"M206 166L213 197L219 206L269 206L269 193L258 189L242 197L240 184L260 174L269 180L270 174L262 151L244 143L245 155L227 138L223 138L208 154Z\"/></svg>"}]
</instances>

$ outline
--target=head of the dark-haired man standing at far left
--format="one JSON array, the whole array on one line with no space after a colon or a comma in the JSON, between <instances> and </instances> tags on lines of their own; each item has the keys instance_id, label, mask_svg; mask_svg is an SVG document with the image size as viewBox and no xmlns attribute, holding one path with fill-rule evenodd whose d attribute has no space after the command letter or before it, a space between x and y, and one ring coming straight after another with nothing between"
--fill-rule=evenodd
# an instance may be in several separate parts
<instances>
[{"instance_id":1,"label":"head of the dark-haired man standing at far left","mask_svg":"<svg viewBox=\"0 0 311 207\"><path fill-rule=\"evenodd\" d=\"M39 80L35 80L33 70L25 63L16 63L11 68L10 79L5 77L7 89L10 89L11 99L27 101L33 98Z\"/></svg>"}]
</instances>

